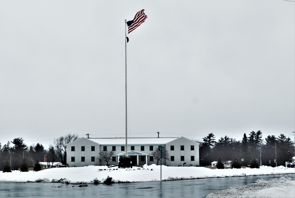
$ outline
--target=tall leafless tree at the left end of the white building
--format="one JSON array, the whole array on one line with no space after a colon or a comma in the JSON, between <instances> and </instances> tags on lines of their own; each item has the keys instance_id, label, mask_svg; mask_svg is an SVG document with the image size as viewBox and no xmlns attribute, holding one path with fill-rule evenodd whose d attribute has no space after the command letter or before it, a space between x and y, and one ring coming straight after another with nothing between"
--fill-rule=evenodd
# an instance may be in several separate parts
<instances>
[{"instance_id":1,"label":"tall leafless tree at the left end of the white building","mask_svg":"<svg viewBox=\"0 0 295 198\"><path fill-rule=\"evenodd\" d=\"M63 164L66 165L67 163L67 144L71 143L79 138L77 134L67 134L65 136L60 136L59 138L55 139L53 142L54 150L57 159Z\"/></svg>"}]
</instances>

